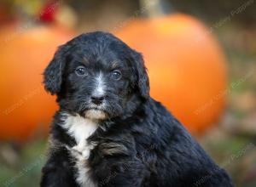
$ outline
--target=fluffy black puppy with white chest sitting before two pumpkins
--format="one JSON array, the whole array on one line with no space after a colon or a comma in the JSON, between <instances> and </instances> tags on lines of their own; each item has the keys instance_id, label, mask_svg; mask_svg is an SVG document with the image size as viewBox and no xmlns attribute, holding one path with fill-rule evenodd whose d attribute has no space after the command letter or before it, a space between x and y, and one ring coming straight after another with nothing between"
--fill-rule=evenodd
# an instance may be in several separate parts
<instances>
[{"instance_id":1,"label":"fluffy black puppy with white chest sitting before two pumpkins","mask_svg":"<svg viewBox=\"0 0 256 187\"><path fill-rule=\"evenodd\" d=\"M150 98L143 57L113 35L83 34L44 71L57 95L41 186L229 187L230 178Z\"/></svg>"}]
</instances>

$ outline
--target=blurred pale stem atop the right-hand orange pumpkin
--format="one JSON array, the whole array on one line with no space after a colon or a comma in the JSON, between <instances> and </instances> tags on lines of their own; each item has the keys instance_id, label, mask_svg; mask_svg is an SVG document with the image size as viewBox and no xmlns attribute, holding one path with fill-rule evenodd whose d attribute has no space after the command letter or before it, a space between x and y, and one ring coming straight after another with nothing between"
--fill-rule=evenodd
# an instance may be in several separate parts
<instances>
[{"instance_id":1,"label":"blurred pale stem atop the right-hand orange pumpkin","mask_svg":"<svg viewBox=\"0 0 256 187\"><path fill-rule=\"evenodd\" d=\"M166 0L140 0L141 11L148 17L170 14L172 5Z\"/></svg>"}]
</instances>

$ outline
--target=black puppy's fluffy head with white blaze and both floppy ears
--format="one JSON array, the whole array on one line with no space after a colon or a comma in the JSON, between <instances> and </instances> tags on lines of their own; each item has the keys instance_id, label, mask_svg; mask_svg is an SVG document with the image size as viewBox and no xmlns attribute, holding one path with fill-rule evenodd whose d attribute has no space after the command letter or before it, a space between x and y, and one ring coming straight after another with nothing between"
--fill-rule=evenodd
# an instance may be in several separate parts
<instances>
[{"instance_id":1,"label":"black puppy's fluffy head with white blaze and both floppy ears","mask_svg":"<svg viewBox=\"0 0 256 187\"><path fill-rule=\"evenodd\" d=\"M62 45L44 71L44 86L62 110L101 120L132 111L149 97L142 55L104 32Z\"/></svg>"}]
</instances>

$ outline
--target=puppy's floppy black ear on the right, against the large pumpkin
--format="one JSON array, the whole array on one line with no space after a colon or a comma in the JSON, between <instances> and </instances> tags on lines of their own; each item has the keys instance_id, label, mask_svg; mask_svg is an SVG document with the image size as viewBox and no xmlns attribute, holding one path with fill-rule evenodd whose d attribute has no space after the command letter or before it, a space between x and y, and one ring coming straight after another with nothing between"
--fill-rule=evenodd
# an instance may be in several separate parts
<instances>
[{"instance_id":1,"label":"puppy's floppy black ear on the right, against the large pumpkin","mask_svg":"<svg viewBox=\"0 0 256 187\"><path fill-rule=\"evenodd\" d=\"M149 81L147 69L144 65L143 55L133 51L133 61L135 62L137 80L136 85L139 89L139 93L144 99L149 97Z\"/></svg>"}]
</instances>

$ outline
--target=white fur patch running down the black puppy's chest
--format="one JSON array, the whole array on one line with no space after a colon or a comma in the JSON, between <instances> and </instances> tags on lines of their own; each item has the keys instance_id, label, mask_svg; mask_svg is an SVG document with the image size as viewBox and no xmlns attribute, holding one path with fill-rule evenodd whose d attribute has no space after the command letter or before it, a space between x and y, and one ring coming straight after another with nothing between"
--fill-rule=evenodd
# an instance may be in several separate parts
<instances>
[{"instance_id":1,"label":"white fur patch running down the black puppy's chest","mask_svg":"<svg viewBox=\"0 0 256 187\"><path fill-rule=\"evenodd\" d=\"M82 187L96 187L96 184L90 179L88 173L90 168L87 165L90 150L93 150L95 145L89 144L87 139L96 131L98 124L88 118L65 113L63 114L62 127L67 129L67 133L77 142L76 146L69 149L75 158L78 169L76 181Z\"/></svg>"}]
</instances>

